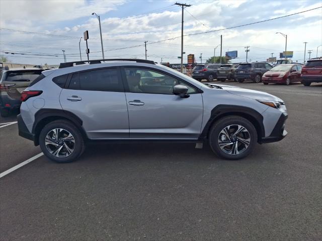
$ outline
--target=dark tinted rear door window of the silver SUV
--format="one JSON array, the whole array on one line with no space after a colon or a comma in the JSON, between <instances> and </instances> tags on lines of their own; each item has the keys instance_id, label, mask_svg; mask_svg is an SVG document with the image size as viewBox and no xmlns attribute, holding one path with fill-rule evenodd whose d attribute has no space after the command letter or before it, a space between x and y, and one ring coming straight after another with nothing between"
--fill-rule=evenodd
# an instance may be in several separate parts
<instances>
[{"instance_id":1,"label":"dark tinted rear door window of the silver SUV","mask_svg":"<svg viewBox=\"0 0 322 241\"><path fill-rule=\"evenodd\" d=\"M123 92L123 83L117 69L97 69L72 75L69 89Z\"/></svg>"}]
</instances>

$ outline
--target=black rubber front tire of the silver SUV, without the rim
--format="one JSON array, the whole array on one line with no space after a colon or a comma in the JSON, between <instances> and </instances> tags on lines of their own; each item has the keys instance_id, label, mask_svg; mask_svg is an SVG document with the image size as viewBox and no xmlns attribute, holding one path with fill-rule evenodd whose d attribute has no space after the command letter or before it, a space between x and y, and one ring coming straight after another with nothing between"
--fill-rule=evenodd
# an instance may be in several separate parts
<instances>
[{"instance_id":1,"label":"black rubber front tire of the silver SUV, without the rim","mask_svg":"<svg viewBox=\"0 0 322 241\"><path fill-rule=\"evenodd\" d=\"M241 148L240 151L242 151L242 152L239 154L233 155L233 154L228 154L228 153L224 152L219 147L218 139L219 139L220 132L225 127L227 127L227 126L234 127L234 125L240 125L240 126L247 129L248 134L241 133L240 135L246 135L246 134L249 135L250 143L249 143L249 146L243 151L242 150L243 147L245 148L245 146L243 146L243 143L241 143L240 141L239 141L239 143L236 142L237 146L239 145L239 147ZM237 139L237 141L238 141L238 139ZM256 132L255 127L253 126L253 124L250 121L248 121L248 119L238 116L238 115L228 115L228 116L224 116L224 117L218 119L218 121L216 121L212 125L210 132L209 132L209 145L210 145L212 151L218 157L228 159L228 160L238 160L238 159L247 157L253 151L253 149L256 145L256 142L257 142L257 132Z\"/></svg>"}]
</instances>

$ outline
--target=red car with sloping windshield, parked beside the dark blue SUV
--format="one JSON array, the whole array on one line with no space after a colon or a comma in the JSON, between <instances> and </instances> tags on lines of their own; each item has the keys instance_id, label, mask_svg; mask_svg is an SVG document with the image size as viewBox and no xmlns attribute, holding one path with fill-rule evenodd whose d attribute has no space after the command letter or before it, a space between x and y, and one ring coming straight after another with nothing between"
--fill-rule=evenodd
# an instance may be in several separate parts
<instances>
[{"instance_id":1,"label":"red car with sloping windshield, parked beside the dark blue SUV","mask_svg":"<svg viewBox=\"0 0 322 241\"><path fill-rule=\"evenodd\" d=\"M279 64L267 71L262 76L264 84L276 83L289 85L301 81L301 69L299 64Z\"/></svg>"}]
</instances>

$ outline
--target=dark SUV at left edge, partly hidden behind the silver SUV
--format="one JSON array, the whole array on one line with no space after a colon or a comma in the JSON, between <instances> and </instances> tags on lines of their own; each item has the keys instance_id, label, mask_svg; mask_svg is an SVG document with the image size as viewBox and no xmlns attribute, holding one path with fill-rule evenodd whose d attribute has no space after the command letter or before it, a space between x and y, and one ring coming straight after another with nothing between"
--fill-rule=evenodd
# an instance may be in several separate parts
<instances>
[{"instance_id":1,"label":"dark SUV at left edge, partly hidden behind the silver SUV","mask_svg":"<svg viewBox=\"0 0 322 241\"><path fill-rule=\"evenodd\" d=\"M27 88L43 69L13 68L3 70L0 79L0 112L1 116L8 116L11 109L20 108L21 92Z\"/></svg>"}]
</instances>

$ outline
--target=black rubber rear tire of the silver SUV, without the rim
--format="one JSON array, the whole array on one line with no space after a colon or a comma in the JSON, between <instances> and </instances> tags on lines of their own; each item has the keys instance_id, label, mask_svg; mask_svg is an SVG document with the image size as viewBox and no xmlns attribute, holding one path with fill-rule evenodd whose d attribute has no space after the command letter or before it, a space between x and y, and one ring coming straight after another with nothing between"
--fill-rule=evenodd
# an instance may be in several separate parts
<instances>
[{"instance_id":1,"label":"black rubber rear tire of the silver SUV, without the rim","mask_svg":"<svg viewBox=\"0 0 322 241\"><path fill-rule=\"evenodd\" d=\"M51 154L45 145L45 139L47 134L53 130L53 129L64 129L68 131L74 138L74 150L73 152L67 156L67 157L56 157L53 154ZM40 132L39 135L39 145L42 150L42 152L45 154L46 157L48 157L50 160L57 162L57 163L68 163L75 161L79 156L83 154L85 151L85 142L84 138L79 132L79 130L69 121L66 121L64 119L60 119L57 121L53 121L49 124L47 124Z\"/></svg>"}]
</instances>

